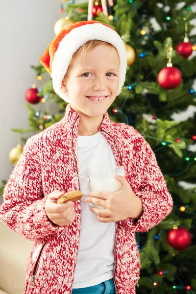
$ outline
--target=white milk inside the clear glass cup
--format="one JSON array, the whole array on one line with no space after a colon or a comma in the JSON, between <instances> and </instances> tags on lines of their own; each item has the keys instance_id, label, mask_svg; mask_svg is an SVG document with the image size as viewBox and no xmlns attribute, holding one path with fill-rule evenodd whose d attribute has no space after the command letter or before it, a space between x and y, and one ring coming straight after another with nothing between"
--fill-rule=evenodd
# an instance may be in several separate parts
<instances>
[{"instance_id":1,"label":"white milk inside the clear glass cup","mask_svg":"<svg viewBox=\"0 0 196 294\"><path fill-rule=\"evenodd\" d=\"M102 191L102 192L117 192L121 190L121 184L115 180L114 176L102 178L102 177L90 177L91 191ZM96 205L98 209L104 209L105 207Z\"/></svg>"}]
</instances>

